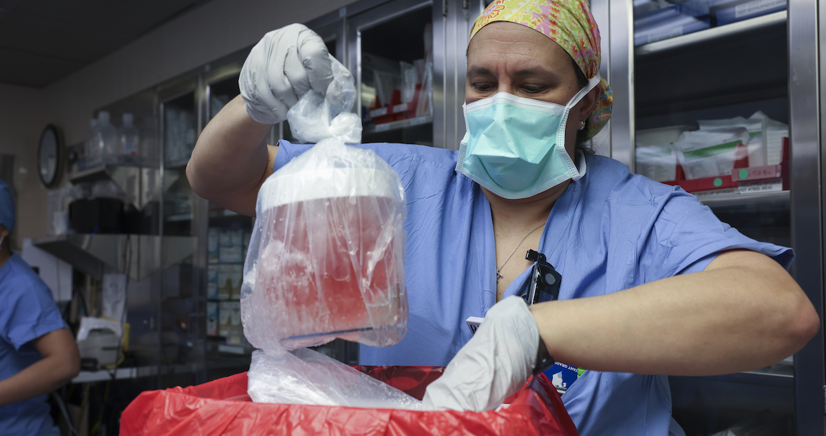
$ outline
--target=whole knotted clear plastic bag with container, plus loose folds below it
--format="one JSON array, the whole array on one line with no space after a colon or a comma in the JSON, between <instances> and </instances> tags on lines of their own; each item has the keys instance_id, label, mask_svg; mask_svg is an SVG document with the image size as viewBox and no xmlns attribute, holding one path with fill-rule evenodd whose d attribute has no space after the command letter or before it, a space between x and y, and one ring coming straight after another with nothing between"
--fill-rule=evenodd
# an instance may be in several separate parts
<instances>
[{"instance_id":1,"label":"whole knotted clear plastic bag with container, plus loose folds below it","mask_svg":"<svg viewBox=\"0 0 826 436\"><path fill-rule=\"evenodd\" d=\"M326 96L306 92L287 113L314 147L259 189L244 263L241 322L255 348L256 402L417 409L420 401L301 347L342 338L398 343L407 329L406 201L398 173L361 140L353 78L333 62ZM297 349L292 353L287 350Z\"/></svg>"}]
</instances>

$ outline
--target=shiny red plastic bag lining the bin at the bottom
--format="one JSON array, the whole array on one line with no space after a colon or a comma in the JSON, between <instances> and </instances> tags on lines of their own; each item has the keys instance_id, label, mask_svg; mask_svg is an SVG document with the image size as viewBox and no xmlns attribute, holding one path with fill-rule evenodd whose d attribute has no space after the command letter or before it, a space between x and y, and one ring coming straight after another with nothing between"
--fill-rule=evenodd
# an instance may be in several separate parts
<instances>
[{"instance_id":1,"label":"shiny red plastic bag lining the bin at the bottom","mask_svg":"<svg viewBox=\"0 0 826 436\"><path fill-rule=\"evenodd\" d=\"M421 399L443 367L355 367ZM280 434L519 434L577 436L548 377L534 377L500 410L459 412L254 403L247 374L198 386L145 391L121 415L121 436Z\"/></svg>"}]
</instances>

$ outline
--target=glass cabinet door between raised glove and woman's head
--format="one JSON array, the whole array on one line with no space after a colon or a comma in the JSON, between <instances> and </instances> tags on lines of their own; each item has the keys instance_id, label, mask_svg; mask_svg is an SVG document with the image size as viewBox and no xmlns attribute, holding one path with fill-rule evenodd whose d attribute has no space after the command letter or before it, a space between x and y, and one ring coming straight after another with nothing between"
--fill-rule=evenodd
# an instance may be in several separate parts
<instances>
[{"instance_id":1,"label":"glass cabinet door between raised glove and woman's head","mask_svg":"<svg viewBox=\"0 0 826 436\"><path fill-rule=\"evenodd\" d=\"M350 21L362 141L434 145L434 10L390 2Z\"/></svg>"}]
</instances>

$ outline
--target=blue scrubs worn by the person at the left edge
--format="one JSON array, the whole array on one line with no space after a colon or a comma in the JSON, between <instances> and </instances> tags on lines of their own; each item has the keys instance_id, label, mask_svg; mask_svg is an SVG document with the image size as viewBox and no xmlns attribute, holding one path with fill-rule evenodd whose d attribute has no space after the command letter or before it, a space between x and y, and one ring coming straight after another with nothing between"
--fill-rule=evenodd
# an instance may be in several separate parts
<instances>
[{"instance_id":1,"label":"blue scrubs worn by the person at the left edge","mask_svg":"<svg viewBox=\"0 0 826 436\"><path fill-rule=\"evenodd\" d=\"M64 327L49 288L28 263L12 254L0 267L0 380L43 358L31 344L33 339ZM0 433L59 436L45 400L42 395L0 406Z\"/></svg>"}]
</instances>

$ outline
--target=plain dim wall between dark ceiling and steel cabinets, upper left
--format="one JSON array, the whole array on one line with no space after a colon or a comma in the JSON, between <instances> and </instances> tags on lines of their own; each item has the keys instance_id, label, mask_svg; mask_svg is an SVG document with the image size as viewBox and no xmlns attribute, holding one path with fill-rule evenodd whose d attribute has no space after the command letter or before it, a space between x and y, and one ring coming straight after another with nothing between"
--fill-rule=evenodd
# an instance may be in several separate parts
<instances>
[{"instance_id":1,"label":"plain dim wall between dark ceiling and steel cabinets, upper left","mask_svg":"<svg viewBox=\"0 0 826 436\"><path fill-rule=\"evenodd\" d=\"M0 85L0 153L17 154L17 239L46 234L47 191L36 174L40 131L82 142L95 109L311 21L354 0L213 0L42 90ZM19 247L19 244L17 244Z\"/></svg>"}]
</instances>

